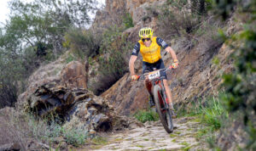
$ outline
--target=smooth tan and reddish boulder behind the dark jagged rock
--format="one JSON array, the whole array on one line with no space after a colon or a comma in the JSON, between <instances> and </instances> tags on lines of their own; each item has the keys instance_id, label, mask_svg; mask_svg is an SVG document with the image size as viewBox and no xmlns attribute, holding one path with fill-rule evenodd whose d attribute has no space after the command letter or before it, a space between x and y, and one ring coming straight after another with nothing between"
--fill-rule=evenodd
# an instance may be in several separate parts
<instances>
[{"instance_id":1,"label":"smooth tan and reddish boulder behind the dark jagged rock","mask_svg":"<svg viewBox=\"0 0 256 151\"><path fill-rule=\"evenodd\" d=\"M46 65L42 65L29 77L26 92L23 92L18 97L16 107L20 108L30 94L35 92L38 87L55 82L67 88L86 88L86 78L84 64L79 61L71 61L67 63L67 58L73 55L70 51L63 54L59 59Z\"/></svg>"}]
</instances>

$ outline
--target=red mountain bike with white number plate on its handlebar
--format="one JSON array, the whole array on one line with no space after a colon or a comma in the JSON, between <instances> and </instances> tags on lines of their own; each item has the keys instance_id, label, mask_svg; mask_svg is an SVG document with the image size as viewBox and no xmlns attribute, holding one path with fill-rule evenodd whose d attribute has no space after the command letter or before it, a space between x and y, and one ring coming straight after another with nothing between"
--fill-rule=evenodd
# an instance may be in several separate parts
<instances>
[{"instance_id":1,"label":"red mountain bike with white number plate on its handlebar","mask_svg":"<svg viewBox=\"0 0 256 151\"><path fill-rule=\"evenodd\" d=\"M172 112L169 108L168 100L166 97L166 89L163 82L165 76L162 75L164 72L171 69L172 66L162 70L154 70L152 72L138 76L137 79L144 80L145 78L148 78L148 80L152 83L153 89L151 89L151 92L153 91L152 94L154 95L156 111L160 117L162 125L168 133L173 131Z\"/></svg>"}]
</instances>

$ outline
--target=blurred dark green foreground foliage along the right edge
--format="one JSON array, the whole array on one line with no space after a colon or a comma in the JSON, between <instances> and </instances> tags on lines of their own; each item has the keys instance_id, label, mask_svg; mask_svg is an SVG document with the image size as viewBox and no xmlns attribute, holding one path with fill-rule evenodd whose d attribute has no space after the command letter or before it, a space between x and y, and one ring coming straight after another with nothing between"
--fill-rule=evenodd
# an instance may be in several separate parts
<instances>
[{"instance_id":1,"label":"blurred dark green foreground foliage along the right edge","mask_svg":"<svg viewBox=\"0 0 256 151\"><path fill-rule=\"evenodd\" d=\"M231 56L235 60L235 70L230 74L224 75L226 96L221 99L226 103L226 108L230 111L230 115L236 115L231 122L243 126L241 130L247 132L247 146L240 149L255 150L256 3L253 0L212 1L214 2L213 10L216 14L221 15L224 20L227 20L235 8L237 8L236 13L242 16L241 18L246 18L246 20L243 20L244 28L238 34L223 35L227 43L230 42L230 47L234 49L234 53ZM242 116L243 121L240 116ZM228 130L223 127L223 131Z\"/></svg>"}]
</instances>

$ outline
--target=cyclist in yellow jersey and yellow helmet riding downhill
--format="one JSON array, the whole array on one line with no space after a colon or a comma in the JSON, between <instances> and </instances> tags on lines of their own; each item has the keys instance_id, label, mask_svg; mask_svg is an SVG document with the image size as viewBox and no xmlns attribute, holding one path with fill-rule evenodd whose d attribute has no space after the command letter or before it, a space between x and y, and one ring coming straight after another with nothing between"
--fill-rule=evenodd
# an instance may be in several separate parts
<instances>
[{"instance_id":1,"label":"cyclist in yellow jersey and yellow helmet riding downhill","mask_svg":"<svg viewBox=\"0 0 256 151\"><path fill-rule=\"evenodd\" d=\"M154 68L156 70L165 69L165 64L163 60L161 59L160 55L160 47L164 48L166 52L171 53L173 63L172 66L174 69L178 66L178 60L176 53L174 50L168 46L168 44L162 40L160 37L153 36L153 30L151 28L142 28L139 31L139 37L141 38L135 45L132 53L131 58L129 61L129 69L131 72L131 80L135 81L137 80L138 76L134 72L134 62L137 59L137 55L140 52L143 56L143 74L145 71L153 71ZM169 107L172 111L173 118L176 118L176 113L174 112L173 104L172 104L172 94L171 90L168 87L167 84L167 77L166 74L164 75L165 79L163 80L164 86L166 89L166 96L169 101ZM148 90L149 93L149 105L152 108L154 104L154 96L151 93L152 83L146 79L145 80L145 87Z\"/></svg>"}]
</instances>

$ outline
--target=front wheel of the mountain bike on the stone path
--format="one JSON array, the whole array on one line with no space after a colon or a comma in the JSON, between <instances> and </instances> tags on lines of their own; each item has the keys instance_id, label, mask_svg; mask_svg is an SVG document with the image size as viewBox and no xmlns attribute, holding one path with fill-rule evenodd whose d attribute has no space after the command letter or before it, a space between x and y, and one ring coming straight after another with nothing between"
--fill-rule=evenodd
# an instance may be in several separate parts
<instances>
[{"instance_id":1,"label":"front wheel of the mountain bike on the stone path","mask_svg":"<svg viewBox=\"0 0 256 151\"><path fill-rule=\"evenodd\" d=\"M170 109L166 109L164 105L161 106L160 101L164 100L166 100L166 98L162 95L160 86L154 86L154 103L157 113L166 132L171 133L173 131L172 113Z\"/></svg>"}]
</instances>

